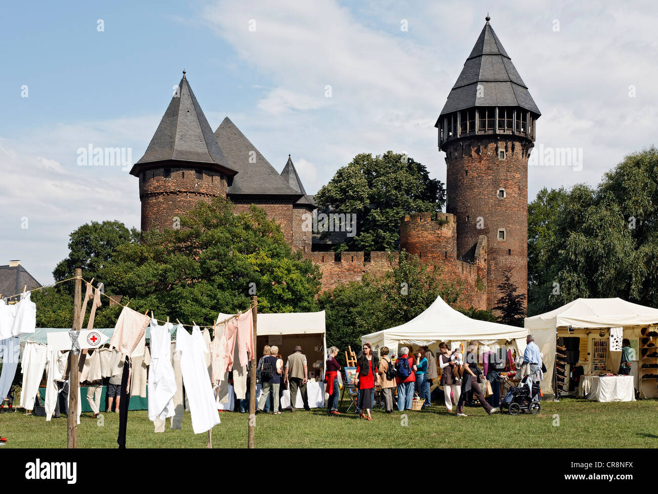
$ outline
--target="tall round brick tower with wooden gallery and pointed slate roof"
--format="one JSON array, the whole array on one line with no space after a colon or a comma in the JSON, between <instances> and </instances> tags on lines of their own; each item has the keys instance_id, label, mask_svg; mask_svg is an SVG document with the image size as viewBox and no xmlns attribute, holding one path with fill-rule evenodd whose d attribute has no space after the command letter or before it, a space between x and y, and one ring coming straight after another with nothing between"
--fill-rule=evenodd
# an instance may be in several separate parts
<instances>
[{"instance_id":1,"label":"tall round brick tower with wooden gallery and pointed slate roof","mask_svg":"<svg viewBox=\"0 0 658 494\"><path fill-rule=\"evenodd\" d=\"M512 268L528 293L528 156L540 111L486 24L436 122L447 164L447 212L457 217L457 258L472 262L487 237L487 307Z\"/></svg>"}]
</instances>

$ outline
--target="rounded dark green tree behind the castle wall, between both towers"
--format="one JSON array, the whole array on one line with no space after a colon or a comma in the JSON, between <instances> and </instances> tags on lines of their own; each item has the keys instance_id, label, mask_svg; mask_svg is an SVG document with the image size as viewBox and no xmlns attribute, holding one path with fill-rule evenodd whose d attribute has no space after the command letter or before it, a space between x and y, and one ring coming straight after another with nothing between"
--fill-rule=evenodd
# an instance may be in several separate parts
<instances>
[{"instance_id":1,"label":"rounded dark green tree behind the castle wall, between both towers","mask_svg":"<svg viewBox=\"0 0 658 494\"><path fill-rule=\"evenodd\" d=\"M445 203L442 182L406 155L361 153L340 168L315 195L320 210L356 214L356 235L340 250L393 251L400 218L413 212L439 212Z\"/></svg>"}]
</instances>

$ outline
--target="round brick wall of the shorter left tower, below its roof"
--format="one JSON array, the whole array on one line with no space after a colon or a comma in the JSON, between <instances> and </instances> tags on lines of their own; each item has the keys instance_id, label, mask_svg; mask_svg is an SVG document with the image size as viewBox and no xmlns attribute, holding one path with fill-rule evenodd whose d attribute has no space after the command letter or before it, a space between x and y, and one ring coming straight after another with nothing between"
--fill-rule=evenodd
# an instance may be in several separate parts
<instances>
[{"instance_id":1,"label":"round brick wall of the shorter left tower, below its roof","mask_svg":"<svg viewBox=\"0 0 658 494\"><path fill-rule=\"evenodd\" d=\"M226 178L218 172L203 170L203 178L197 179L195 168L169 169L168 178L165 167L139 175L142 231L172 228L174 217L184 216L199 201L210 203L214 197L226 197Z\"/></svg>"}]
</instances>

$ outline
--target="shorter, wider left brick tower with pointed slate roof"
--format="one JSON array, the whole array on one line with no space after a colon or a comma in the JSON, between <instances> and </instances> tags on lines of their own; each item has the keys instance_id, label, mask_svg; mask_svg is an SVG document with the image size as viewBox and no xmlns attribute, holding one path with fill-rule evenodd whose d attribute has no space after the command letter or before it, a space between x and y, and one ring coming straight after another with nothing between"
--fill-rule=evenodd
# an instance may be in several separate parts
<instances>
[{"instance_id":1,"label":"shorter, wider left brick tower with pointed slate roof","mask_svg":"<svg viewBox=\"0 0 658 494\"><path fill-rule=\"evenodd\" d=\"M174 227L199 201L226 197L235 174L222 153L183 71L183 78L143 157L139 177L141 230Z\"/></svg>"}]
</instances>

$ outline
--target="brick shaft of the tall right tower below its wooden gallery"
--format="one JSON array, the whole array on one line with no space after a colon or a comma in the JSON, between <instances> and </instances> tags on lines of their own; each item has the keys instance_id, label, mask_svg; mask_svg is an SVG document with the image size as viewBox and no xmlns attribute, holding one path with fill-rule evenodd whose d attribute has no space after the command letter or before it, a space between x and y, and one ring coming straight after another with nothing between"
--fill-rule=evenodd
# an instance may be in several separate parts
<instances>
[{"instance_id":1,"label":"brick shaft of the tall right tower below its wooden gallery","mask_svg":"<svg viewBox=\"0 0 658 494\"><path fill-rule=\"evenodd\" d=\"M503 137L503 136L501 136ZM487 239L487 305L500 294L502 272L512 267L519 293L528 292L528 139L482 137L445 145L447 212L457 218L457 258L474 260L481 235ZM505 159L499 159L505 151ZM505 189L505 197L498 190ZM480 218L478 220L478 218ZM480 228L481 227L481 228ZM498 239L499 229L505 239Z\"/></svg>"}]
</instances>

